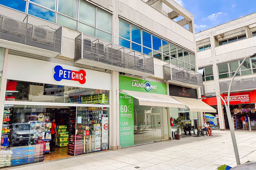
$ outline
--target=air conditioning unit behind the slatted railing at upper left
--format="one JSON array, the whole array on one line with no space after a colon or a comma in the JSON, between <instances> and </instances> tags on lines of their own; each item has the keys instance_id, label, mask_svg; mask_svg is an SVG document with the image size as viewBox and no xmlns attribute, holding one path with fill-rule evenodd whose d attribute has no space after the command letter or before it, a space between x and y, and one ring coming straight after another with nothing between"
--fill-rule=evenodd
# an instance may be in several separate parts
<instances>
[{"instance_id":1,"label":"air conditioning unit behind the slatted railing at upper left","mask_svg":"<svg viewBox=\"0 0 256 170\"><path fill-rule=\"evenodd\" d=\"M33 26L31 38L38 42L53 44L54 43L54 32L44 29L42 27Z\"/></svg>"}]
</instances>

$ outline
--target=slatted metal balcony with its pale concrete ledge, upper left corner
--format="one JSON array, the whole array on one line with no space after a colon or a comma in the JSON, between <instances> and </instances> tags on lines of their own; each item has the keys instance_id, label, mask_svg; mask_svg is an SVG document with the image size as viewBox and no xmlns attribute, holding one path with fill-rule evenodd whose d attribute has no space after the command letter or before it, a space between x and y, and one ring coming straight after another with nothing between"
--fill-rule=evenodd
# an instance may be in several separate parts
<instances>
[{"instance_id":1,"label":"slatted metal balcony with its pale concrete ledge, upper left corner","mask_svg":"<svg viewBox=\"0 0 256 170\"><path fill-rule=\"evenodd\" d=\"M0 46L48 57L61 53L62 26L0 6Z\"/></svg>"}]
</instances>

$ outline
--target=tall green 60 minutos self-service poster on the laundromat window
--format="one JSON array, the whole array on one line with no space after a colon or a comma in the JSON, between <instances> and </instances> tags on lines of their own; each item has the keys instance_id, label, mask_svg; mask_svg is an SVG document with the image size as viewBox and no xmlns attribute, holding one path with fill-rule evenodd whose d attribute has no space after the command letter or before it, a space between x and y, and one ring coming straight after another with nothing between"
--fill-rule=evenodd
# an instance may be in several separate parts
<instances>
[{"instance_id":1,"label":"tall green 60 minutos self-service poster on the laundromat window","mask_svg":"<svg viewBox=\"0 0 256 170\"><path fill-rule=\"evenodd\" d=\"M121 147L134 145L133 97L119 93L119 142Z\"/></svg>"}]
</instances>

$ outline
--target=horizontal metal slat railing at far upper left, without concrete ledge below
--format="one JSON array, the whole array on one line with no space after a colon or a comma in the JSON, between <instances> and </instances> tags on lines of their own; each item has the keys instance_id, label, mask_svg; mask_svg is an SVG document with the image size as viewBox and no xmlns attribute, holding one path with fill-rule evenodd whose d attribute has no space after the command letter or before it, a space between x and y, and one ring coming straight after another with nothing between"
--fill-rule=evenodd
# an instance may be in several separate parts
<instances>
[{"instance_id":1,"label":"horizontal metal slat railing at far upper left, without concrete ledge below","mask_svg":"<svg viewBox=\"0 0 256 170\"><path fill-rule=\"evenodd\" d=\"M2 39L61 53L62 26L23 13L11 17L3 13L6 11L0 12L0 42Z\"/></svg>"}]
</instances>

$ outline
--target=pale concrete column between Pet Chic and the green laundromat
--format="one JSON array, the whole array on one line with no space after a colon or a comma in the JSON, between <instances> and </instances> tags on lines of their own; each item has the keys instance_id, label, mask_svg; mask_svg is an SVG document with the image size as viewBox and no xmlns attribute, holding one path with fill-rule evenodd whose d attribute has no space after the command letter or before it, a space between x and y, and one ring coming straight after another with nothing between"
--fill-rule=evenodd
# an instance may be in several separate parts
<instances>
[{"instance_id":1,"label":"pale concrete column between Pet Chic and the green laundromat","mask_svg":"<svg viewBox=\"0 0 256 170\"><path fill-rule=\"evenodd\" d=\"M119 145L119 72L111 71L111 92L110 92L110 149L121 149Z\"/></svg>"}]
</instances>

